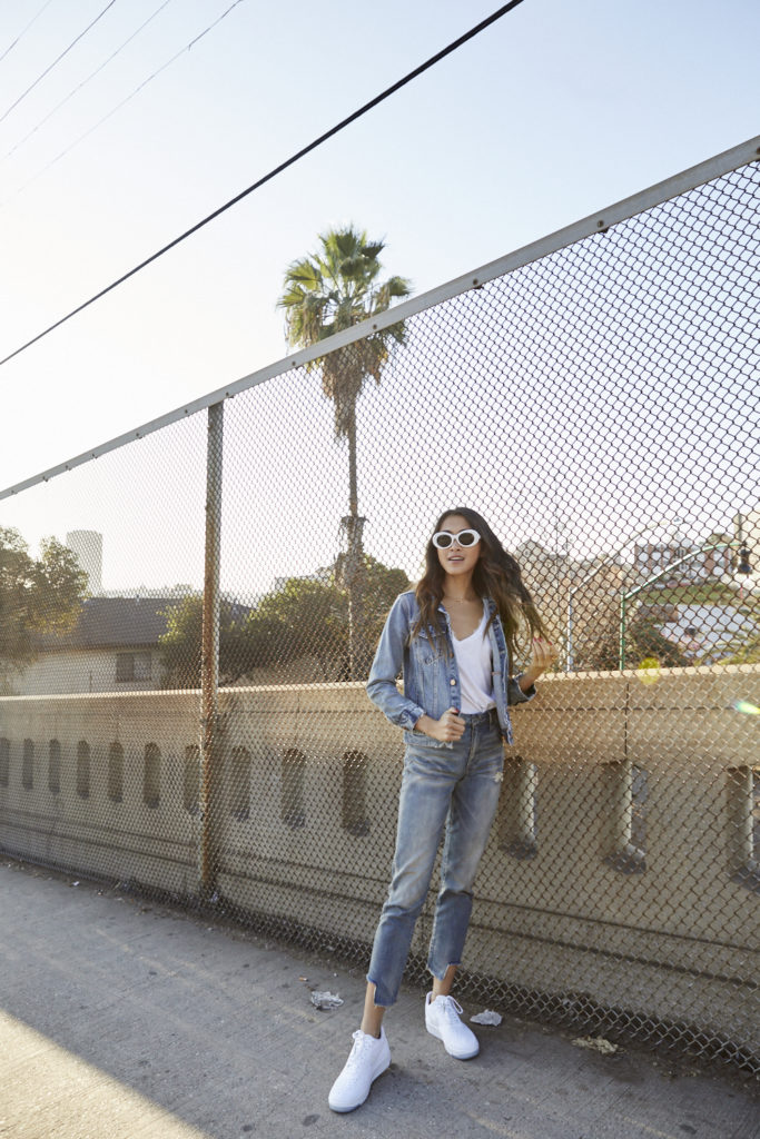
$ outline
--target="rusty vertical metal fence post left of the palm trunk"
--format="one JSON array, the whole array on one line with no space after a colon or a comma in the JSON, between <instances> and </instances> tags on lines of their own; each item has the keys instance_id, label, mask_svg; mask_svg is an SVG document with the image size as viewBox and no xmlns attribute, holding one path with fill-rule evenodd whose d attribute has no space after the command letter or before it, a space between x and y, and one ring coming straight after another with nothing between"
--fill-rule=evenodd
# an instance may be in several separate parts
<instances>
[{"instance_id":1,"label":"rusty vertical metal fence post left of the palm trunk","mask_svg":"<svg viewBox=\"0 0 760 1139\"><path fill-rule=\"evenodd\" d=\"M219 568L221 554L223 402L209 408L206 451L206 540L201 642L201 895L216 890L216 827L219 813Z\"/></svg>"}]
</instances>

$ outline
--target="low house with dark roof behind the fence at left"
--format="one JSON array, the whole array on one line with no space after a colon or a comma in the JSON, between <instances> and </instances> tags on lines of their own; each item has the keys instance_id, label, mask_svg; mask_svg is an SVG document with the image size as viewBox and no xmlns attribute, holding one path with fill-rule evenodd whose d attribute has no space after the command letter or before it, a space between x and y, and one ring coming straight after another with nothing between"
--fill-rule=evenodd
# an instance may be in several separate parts
<instances>
[{"instance_id":1,"label":"low house with dark roof behind the fence at left","mask_svg":"<svg viewBox=\"0 0 760 1139\"><path fill-rule=\"evenodd\" d=\"M160 638L177 597L91 597L66 633L38 638L36 659L13 680L17 696L161 688Z\"/></svg>"}]
</instances>

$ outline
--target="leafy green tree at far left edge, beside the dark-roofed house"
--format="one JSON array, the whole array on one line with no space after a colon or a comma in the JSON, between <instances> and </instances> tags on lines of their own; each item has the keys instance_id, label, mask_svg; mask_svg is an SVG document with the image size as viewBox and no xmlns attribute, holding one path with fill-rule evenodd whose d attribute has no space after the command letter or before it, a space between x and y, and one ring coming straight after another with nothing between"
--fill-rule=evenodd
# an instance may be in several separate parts
<instances>
[{"instance_id":1,"label":"leafy green tree at far left edge, beside the dark-roofed house","mask_svg":"<svg viewBox=\"0 0 760 1139\"><path fill-rule=\"evenodd\" d=\"M76 624L85 589L87 574L68 547L47 538L33 558L17 530L0 526L0 689L34 661L41 634Z\"/></svg>"}]
</instances>

